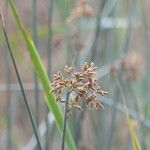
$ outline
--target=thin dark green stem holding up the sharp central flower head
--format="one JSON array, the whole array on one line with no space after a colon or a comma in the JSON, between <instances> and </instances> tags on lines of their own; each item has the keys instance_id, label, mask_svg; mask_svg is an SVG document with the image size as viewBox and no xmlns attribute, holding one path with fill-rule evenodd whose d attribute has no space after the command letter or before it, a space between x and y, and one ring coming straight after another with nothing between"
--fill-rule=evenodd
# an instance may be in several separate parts
<instances>
[{"instance_id":1,"label":"thin dark green stem holding up the sharp central flower head","mask_svg":"<svg viewBox=\"0 0 150 150\"><path fill-rule=\"evenodd\" d=\"M65 148L65 134L66 134L66 125L67 125L67 107L68 107L68 101L69 101L69 94L70 93L67 91L67 96L66 96L66 101L65 101L65 115L64 115L64 126L63 126L61 150L64 150Z\"/></svg>"}]
</instances>

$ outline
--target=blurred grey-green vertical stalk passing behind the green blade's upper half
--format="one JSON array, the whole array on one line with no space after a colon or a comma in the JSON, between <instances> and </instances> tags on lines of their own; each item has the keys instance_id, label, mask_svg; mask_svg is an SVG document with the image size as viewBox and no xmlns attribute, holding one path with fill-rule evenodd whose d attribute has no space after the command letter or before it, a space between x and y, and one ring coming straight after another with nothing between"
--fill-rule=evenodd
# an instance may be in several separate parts
<instances>
[{"instance_id":1,"label":"blurred grey-green vertical stalk passing behind the green blade's upper half","mask_svg":"<svg viewBox=\"0 0 150 150\"><path fill-rule=\"evenodd\" d=\"M38 47L38 37L37 37L37 0L32 1L32 37L33 41ZM36 125L39 125L39 82L36 72L34 71L34 89L35 89L35 112L36 112Z\"/></svg>"}]
</instances>

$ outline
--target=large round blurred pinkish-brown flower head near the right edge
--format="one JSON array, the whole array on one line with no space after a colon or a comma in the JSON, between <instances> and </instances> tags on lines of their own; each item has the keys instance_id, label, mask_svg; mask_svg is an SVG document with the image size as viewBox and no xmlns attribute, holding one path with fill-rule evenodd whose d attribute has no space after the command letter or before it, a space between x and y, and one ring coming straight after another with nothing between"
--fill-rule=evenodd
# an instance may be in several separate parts
<instances>
[{"instance_id":1,"label":"large round blurred pinkish-brown flower head near the right edge","mask_svg":"<svg viewBox=\"0 0 150 150\"><path fill-rule=\"evenodd\" d=\"M132 53L122 61L126 79L137 80L143 70L144 60L140 53Z\"/></svg>"}]
</instances>

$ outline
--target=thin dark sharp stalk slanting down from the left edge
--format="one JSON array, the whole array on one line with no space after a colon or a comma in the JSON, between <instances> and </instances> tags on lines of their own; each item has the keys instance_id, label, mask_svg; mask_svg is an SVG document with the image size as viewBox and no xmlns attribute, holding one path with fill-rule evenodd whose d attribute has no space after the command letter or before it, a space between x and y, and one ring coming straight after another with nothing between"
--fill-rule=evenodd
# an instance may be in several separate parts
<instances>
[{"instance_id":1,"label":"thin dark sharp stalk slanting down from the left edge","mask_svg":"<svg viewBox=\"0 0 150 150\"><path fill-rule=\"evenodd\" d=\"M5 39L6 39L7 46L8 46L8 50L9 50L9 53L10 53L10 56L11 56L11 59L12 59L12 63L13 63L13 66L14 66L14 69L15 69L15 72L16 72L16 75L17 75L17 79L18 79L20 88L21 88L23 99L24 99L27 111L29 113L29 117L30 117L30 120L31 120L33 131L34 131L35 137L37 139L39 149L42 150L42 146L41 146L41 143L40 143L40 140L39 140L39 137L38 137L38 132L37 132L37 129L36 129L36 125L35 125L35 122L34 122L34 119L33 119L33 116L32 116L32 112L31 112L29 104L28 104L28 100L27 100L27 97L26 97L26 94L25 94L25 91L24 91L24 87L22 85L22 81L21 81L21 78L20 78L20 75L19 75L19 72L18 72L18 68L17 68L16 62L15 62L13 53L12 53L10 42L9 42L9 39L8 39L8 36L7 36L7 33L6 33L6 29L5 29L5 24L4 24L4 21L3 21L3 18L2 18L1 14L0 14L0 19L1 19L1 22L2 22L2 29L3 29L3 32L4 32L4 36L5 36Z\"/></svg>"}]
</instances>

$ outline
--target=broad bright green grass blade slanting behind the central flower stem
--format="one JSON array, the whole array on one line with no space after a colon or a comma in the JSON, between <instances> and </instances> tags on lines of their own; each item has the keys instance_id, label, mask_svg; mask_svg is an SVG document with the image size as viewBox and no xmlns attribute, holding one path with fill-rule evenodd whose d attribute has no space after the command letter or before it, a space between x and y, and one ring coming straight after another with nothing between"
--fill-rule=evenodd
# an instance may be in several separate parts
<instances>
[{"instance_id":1,"label":"broad bright green grass blade slanting behind the central flower stem","mask_svg":"<svg viewBox=\"0 0 150 150\"><path fill-rule=\"evenodd\" d=\"M16 22L19 30L21 31L22 36L25 40L25 43L26 43L28 52L31 56L31 60L33 62L35 70L36 70L36 72L37 72L37 74L38 74L38 76L42 82L48 108L54 114L56 125L57 125L58 129L60 131L62 131L63 130L63 113L62 113L59 105L55 101L55 95L52 92L50 92L51 86L50 86L50 81L49 81L48 75L46 73L46 70L45 70L45 68L41 62L40 56L36 50L36 47L35 47L32 39L31 39L30 35L24 29L24 26L23 26L23 24L22 24L22 22L18 16L18 13L16 11L16 8L15 8L12 0L9 0L8 2L10 5L10 8L12 10L12 13L14 15L15 22ZM69 150L76 150L76 146L75 146L72 134L71 134L68 127L66 130L66 139L65 140L66 140L66 144L67 144Z\"/></svg>"}]
</instances>

